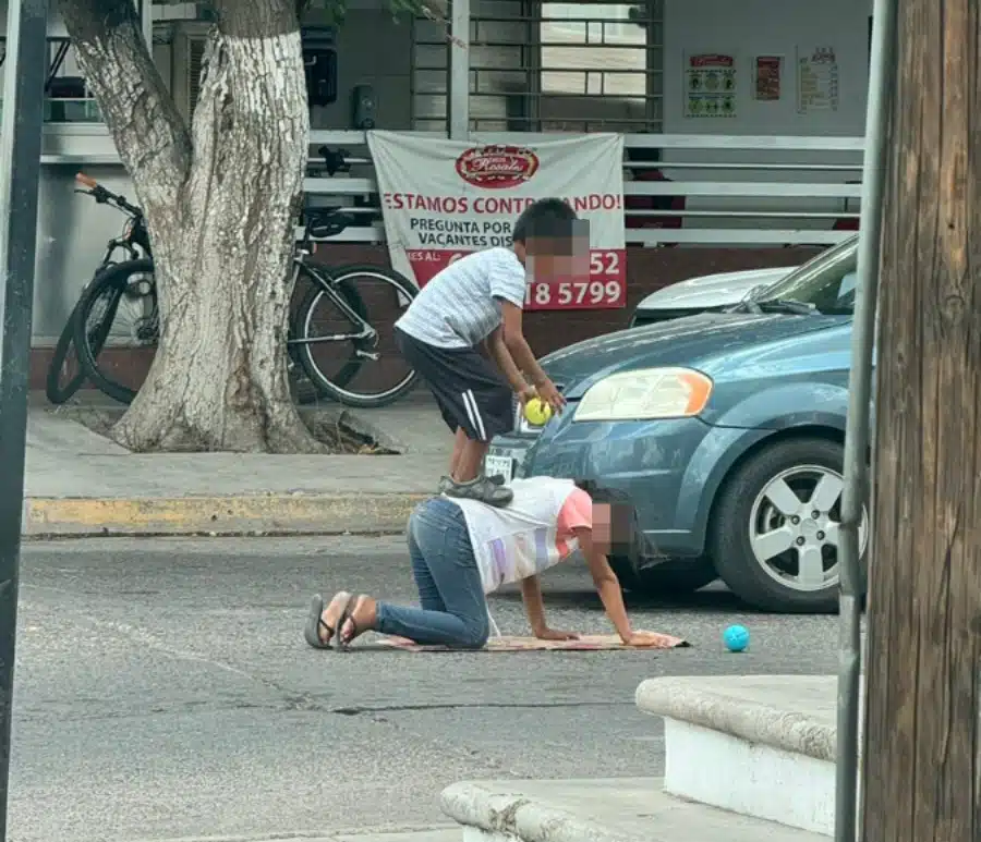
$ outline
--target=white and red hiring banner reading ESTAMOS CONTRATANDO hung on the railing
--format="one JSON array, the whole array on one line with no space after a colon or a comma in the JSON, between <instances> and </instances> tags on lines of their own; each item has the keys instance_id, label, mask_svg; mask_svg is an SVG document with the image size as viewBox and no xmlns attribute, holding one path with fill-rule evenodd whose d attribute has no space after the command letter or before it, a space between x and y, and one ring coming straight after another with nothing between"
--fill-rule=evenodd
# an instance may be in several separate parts
<instances>
[{"instance_id":1,"label":"white and red hiring banner reading ESTAMOS CONTRATANDO hung on the railing","mask_svg":"<svg viewBox=\"0 0 981 842\"><path fill-rule=\"evenodd\" d=\"M622 135L521 146L400 132L367 136L391 265L420 286L471 252L509 246L521 211L558 196L589 222L589 278L530 283L525 309L627 305Z\"/></svg>"}]
</instances>

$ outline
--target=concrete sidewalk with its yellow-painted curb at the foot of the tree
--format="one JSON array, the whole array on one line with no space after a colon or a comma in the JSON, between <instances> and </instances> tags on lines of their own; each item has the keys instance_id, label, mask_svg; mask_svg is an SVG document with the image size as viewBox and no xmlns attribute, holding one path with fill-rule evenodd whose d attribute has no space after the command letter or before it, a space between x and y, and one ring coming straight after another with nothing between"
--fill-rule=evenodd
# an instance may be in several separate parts
<instances>
[{"instance_id":1,"label":"concrete sidewalk with its yellow-painted curb at the foot of the tree","mask_svg":"<svg viewBox=\"0 0 981 842\"><path fill-rule=\"evenodd\" d=\"M32 395L24 534L400 533L452 444L419 392L383 410L318 407L397 455L134 454ZM97 399L84 406L110 406Z\"/></svg>"}]
</instances>

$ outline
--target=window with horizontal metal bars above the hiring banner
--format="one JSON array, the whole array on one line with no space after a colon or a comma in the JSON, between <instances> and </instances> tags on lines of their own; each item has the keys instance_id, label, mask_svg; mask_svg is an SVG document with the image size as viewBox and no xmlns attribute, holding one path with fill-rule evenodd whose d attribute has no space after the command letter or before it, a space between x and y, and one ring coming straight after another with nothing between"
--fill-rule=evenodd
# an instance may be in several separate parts
<instances>
[{"instance_id":1,"label":"window with horizontal metal bars above the hiring banner","mask_svg":"<svg viewBox=\"0 0 981 842\"><path fill-rule=\"evenodd\" d=\"M470 0L468 8L471 131L661 131L663 0ZM413 129L447 124L449 53L444 23L413 23Z\"/></svg>"}]
</instances>

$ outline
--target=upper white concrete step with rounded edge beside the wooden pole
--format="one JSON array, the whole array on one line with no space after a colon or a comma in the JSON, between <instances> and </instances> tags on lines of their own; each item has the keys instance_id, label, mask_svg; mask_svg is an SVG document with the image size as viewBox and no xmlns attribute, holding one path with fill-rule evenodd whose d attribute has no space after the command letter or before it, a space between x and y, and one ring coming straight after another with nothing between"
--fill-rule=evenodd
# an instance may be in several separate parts
<instances>
[{"instance_id":1,"label":"upper white concrete step with rounded edge beside the wooden pole","mask_svg":"<svg viewBox=\"0 0 981 842\"><path fill-rule=\"evenodd\" d=\"M835 676L651 679L637 705L664 717L665 792L834 834Z\"/></svg>"}]
</instances>

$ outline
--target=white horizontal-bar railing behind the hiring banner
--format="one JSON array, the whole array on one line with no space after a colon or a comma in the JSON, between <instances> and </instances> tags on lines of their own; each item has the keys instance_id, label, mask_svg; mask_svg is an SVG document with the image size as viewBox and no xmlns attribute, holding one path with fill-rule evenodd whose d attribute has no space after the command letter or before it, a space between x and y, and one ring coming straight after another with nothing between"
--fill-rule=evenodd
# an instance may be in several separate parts
<instances>
[{"instance_id":1,"label":"white horizontal-bar railing behind the hiring banner","mask_svg":"<svg viewBox=\"0 0 981 842\"><path fill-rule=\"evenodd\" d=\"M438 136L443 136L441 134ZM475 134L480 143L530 143L542 135ZM320 146L344 149L350 172L328 176L318 168ZM627 242L656 246L820 245L849 236L835 230L858 219L860 137L627 135L631 149L657 148L661 162L626 161L628 171L659 169L670 181L626 181L626 196L683 197L683 207L629 209L628 220L681 219L681 228L628 228ZM385 242L377 185L363 132L311 132L308 205L344 207L363 224L339 242Z\"/></svg>"}]
</instances>

